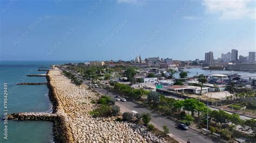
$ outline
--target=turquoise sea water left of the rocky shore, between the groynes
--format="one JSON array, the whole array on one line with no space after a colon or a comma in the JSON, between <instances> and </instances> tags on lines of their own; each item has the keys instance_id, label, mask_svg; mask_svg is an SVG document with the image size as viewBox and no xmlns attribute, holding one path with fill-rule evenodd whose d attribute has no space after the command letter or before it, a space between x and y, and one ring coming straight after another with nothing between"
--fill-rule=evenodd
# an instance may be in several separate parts
<instances>
[{"instance_id":1,"label":"turquoise sea water left of the rocky shore, between the groynes","mask_svg":"<svg viewBox=\"0 0 256 143\"><path fill-rule=\"evenodd\" d=\"M26 74L45 74L39 67L50 67L68 61L0 61L0 117L4 109L4 82L8 83L8 113L51 112L46 85L16 85L19 82L46 82L45 77ZM4 139L4 123L0 121L0 142L51 142L50 121L8 121L8 140Z\"/></svg>"}]
</instances>

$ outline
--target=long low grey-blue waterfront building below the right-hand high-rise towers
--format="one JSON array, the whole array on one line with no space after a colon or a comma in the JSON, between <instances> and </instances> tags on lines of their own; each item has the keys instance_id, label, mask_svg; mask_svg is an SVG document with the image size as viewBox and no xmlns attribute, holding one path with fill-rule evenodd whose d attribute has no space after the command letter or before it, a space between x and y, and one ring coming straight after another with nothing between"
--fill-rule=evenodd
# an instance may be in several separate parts
<instances>
[{"instance_id":1,"label":"long low grey-blue waterfront building below the right-hand high-rise towers","mask_svg":"<svg viewBox=\"0 0 256 143\"><path fill-rule=\"evenodd\" d=\"M226 70L256 71L256 63L236 63L225 66Z\"/></svg>"}]
</instances>

